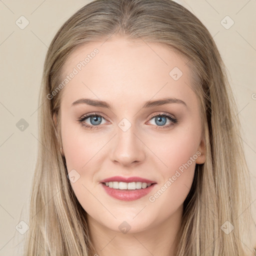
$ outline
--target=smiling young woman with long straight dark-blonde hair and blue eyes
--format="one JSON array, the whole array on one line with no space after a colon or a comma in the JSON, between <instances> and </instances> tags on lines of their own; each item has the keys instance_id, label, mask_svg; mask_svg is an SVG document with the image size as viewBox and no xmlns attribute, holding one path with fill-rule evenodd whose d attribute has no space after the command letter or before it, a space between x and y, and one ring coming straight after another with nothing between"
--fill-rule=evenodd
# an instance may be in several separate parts
<instances>
[{"instance_id":1,"label":"smiling young woman with long straight dark-blonde hair and blue eyes","mask_svg":"<svg viewBox=\"0 0 256 256\"><path fill-rule=\"evenodd\" d=\"M237 111L187 9L85 5L49 46L39 105L25 255L253 255Z\"/></svg>"}]
</instances>

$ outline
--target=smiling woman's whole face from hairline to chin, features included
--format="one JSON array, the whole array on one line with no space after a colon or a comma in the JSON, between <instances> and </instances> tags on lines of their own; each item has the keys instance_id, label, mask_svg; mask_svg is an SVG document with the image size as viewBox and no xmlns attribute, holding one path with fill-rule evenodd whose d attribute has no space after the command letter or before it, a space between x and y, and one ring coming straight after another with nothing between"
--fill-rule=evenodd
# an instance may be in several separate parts
<instances>
[{"instance_id":1,"label":"smiling woman's whole face from hairline to chin, features included","mask_svg":"<svg viewBox=\"0 0 256 256\"><path fill-rule=\"evenodd\" d=\"M79 46L62 69L63 154L91 221L137 232L182 212L204 162L199 101L186 60L166 46L102 43Z\"/></svg>"}]
</instances>

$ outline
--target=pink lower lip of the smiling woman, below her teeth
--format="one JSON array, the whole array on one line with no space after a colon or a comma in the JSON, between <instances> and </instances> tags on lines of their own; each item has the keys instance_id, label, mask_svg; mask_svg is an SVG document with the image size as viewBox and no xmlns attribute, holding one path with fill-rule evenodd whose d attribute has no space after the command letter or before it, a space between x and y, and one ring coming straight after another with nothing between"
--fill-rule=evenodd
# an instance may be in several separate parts
<instances>
[{"instance_id":1,"label":"pink lower lip of the smiling woman, below her teeth","mask_svg":"<svg viewBox=\"0 0 256 256\"><path fill-rule=\"evenodd\" d=\"M104 183L101 183L101 185L110 196L123 201L133 201L147 195L153 189L156 183L146 188L134 190L110 188L106 186Z\"/></svg>"}]
</instances>

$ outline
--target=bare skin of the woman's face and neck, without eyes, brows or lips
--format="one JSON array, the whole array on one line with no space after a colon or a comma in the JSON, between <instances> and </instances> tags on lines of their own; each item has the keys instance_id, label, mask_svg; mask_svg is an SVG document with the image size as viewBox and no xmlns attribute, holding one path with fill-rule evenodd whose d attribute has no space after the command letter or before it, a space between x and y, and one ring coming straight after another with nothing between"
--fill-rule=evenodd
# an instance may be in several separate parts
<instances>
[{"instance_id":1,"label":"bare skin of the woman's face and neck, without eyes, brows or lips","mask_svg":"<svg viewBox=\"0 0 256 256\"><path fill-rule=\"evenodd\" d=\"M71 182L74 193L88 214L88 225L98 255L175 255L176 233L181 224L182 206L192 184L195 163L205 161L201 137L199 101L191 89L191 74L186 59L157 44L130 41L114 36L103 42L81 45L68 57L62 77L69 74L86 54L99 52L61 91L60 123L62 153L67 171L75 169L80 177ZM173 67L182 71L178 80L170 77ZM172 97L182 103L142 108L147 100ZM77 99L107 101L112 109ZM97 112L103 116L91 130L78 118ZM162 127L150 117L169 113ZM157 117L157 116L156 116ZM126 118L131 127L123 131L118 123ZM54 120L56 116L54 115ZM163 120L164 123L165 119ZM201 152L188 168L155 199L149 201L175 171L197 151ZM100 180L111 176L139 176L157 182L153 190L137 200L122 201L109 196ZM126 221L130 230L118 226Z\"/></svg>"}]
</instances>

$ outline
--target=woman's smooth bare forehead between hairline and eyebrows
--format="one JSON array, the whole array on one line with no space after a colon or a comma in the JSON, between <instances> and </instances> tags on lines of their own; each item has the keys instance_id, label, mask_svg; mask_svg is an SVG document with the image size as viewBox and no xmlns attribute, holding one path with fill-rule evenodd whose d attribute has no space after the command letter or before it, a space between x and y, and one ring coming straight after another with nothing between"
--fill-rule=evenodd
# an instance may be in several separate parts
<instances>
[{"instance_id":1,"label":"woman's smooth bare forehead between hairline and eyebrows","mask_svg":"<svg viewBox=\"0 0 256 256\"><path fill-rule=\"evenodd\" d=\"M61 80L76 73L65 86L63 97L75 100L89 94L102 100L148 100L168 94L185 99L193 93L186 62L171 48L142 39L113 37L79 45L62 68Z\"/></svg>"}]
</instances>

